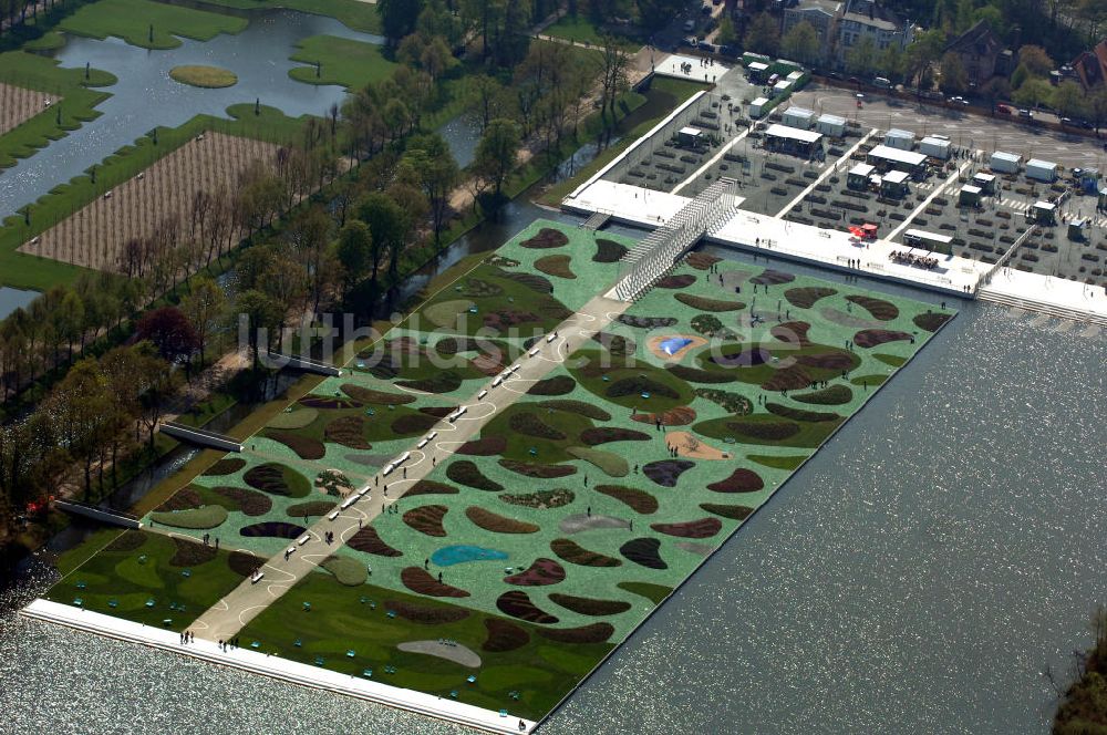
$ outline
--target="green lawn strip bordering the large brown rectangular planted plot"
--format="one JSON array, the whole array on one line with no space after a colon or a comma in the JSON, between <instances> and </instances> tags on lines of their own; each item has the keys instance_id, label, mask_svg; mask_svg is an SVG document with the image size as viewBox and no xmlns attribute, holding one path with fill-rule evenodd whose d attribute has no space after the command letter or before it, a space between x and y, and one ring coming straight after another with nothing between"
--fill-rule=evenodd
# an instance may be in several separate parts
<instances>
[{"instance_id":1,"label":"green lawn strip bordering the large brown rectangular planted plot","mask_svg":"<svg viewBox=\"0 0 1107 735\"><path fill-rule=\"evenodd\" d=\"M22 216L9 217L0 228L0 286L44 291L56 283L76 278L81 269L49 258L18 252L17 249L59 221L71 216L105 190L135 176L194 138L203 131L241 135L275 143L290 142L299 135L307 117L292 118L273 107L262 106L254 114L252 104L227 108L231 120L197 115L180 127L157 128L157 144L144 136L105 158L91 176L77 176L30 205L31 224ZM7 136L6 136L7 137Z\"/></svg>"}]
</instances>

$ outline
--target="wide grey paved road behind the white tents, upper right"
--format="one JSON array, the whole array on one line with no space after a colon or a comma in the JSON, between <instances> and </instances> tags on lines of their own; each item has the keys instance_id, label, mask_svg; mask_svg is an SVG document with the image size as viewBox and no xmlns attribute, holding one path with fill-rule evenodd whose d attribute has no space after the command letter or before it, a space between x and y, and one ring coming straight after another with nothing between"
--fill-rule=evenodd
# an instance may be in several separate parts
<instances>
[{"instance_id":1,"label":"wide grey paved road behind the white tents, upper right","mask_svg":"<svg viewBox=\"0 0 1107 735\"><path fill-rule=\"evenodd\" d=\"M913 101L865 93L859 110L853 90L810 84L793 95L792 104L809 107L818 114L831 113L857 120L865 127L901 127L917 135L940 133L954 145L992 153L1006 151L1025 158L1044 158L1066 168L1096 167L1107 170L1107 153L1096 138L1068 135L1053 130L1022 125L1008 115L987 117L958 112Z\"/></svg>"}]
</instances>

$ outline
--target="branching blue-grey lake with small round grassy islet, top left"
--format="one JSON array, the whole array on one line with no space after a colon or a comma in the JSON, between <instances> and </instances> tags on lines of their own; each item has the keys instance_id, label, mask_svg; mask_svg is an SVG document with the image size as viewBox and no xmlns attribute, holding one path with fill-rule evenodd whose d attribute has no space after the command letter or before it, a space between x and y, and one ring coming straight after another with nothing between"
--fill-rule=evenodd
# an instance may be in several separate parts
<instances>
[{"instance_id":1,"label":"branching blue-grey lake with small round grassy islet, top left","mask_svg":"<svg viewBox=\"0 0 1107 735\"><path fill-rule=\"evenodd\" d=\"M248 17L249 27L237 35L221 34L206 42L182 39L180 46L167 51L147 51L114 38L66 35L65 45L52 54L62 66L84 69L91 63L120 81L104 87L112 96L96 107L100 117L0 172L0 219L159 125L176 127L200 113L226 117L230 105L258 97L292 117L323 115L332 104L341 104L345 90L290 79L288 71L302 65L289 61L297 42L320 34L383 42L322 15L256 11ZM238 84L223 90L179 84L169 79L169 70L180 64L229 69L238 75Z\"/></svg>"}]
</instances>

